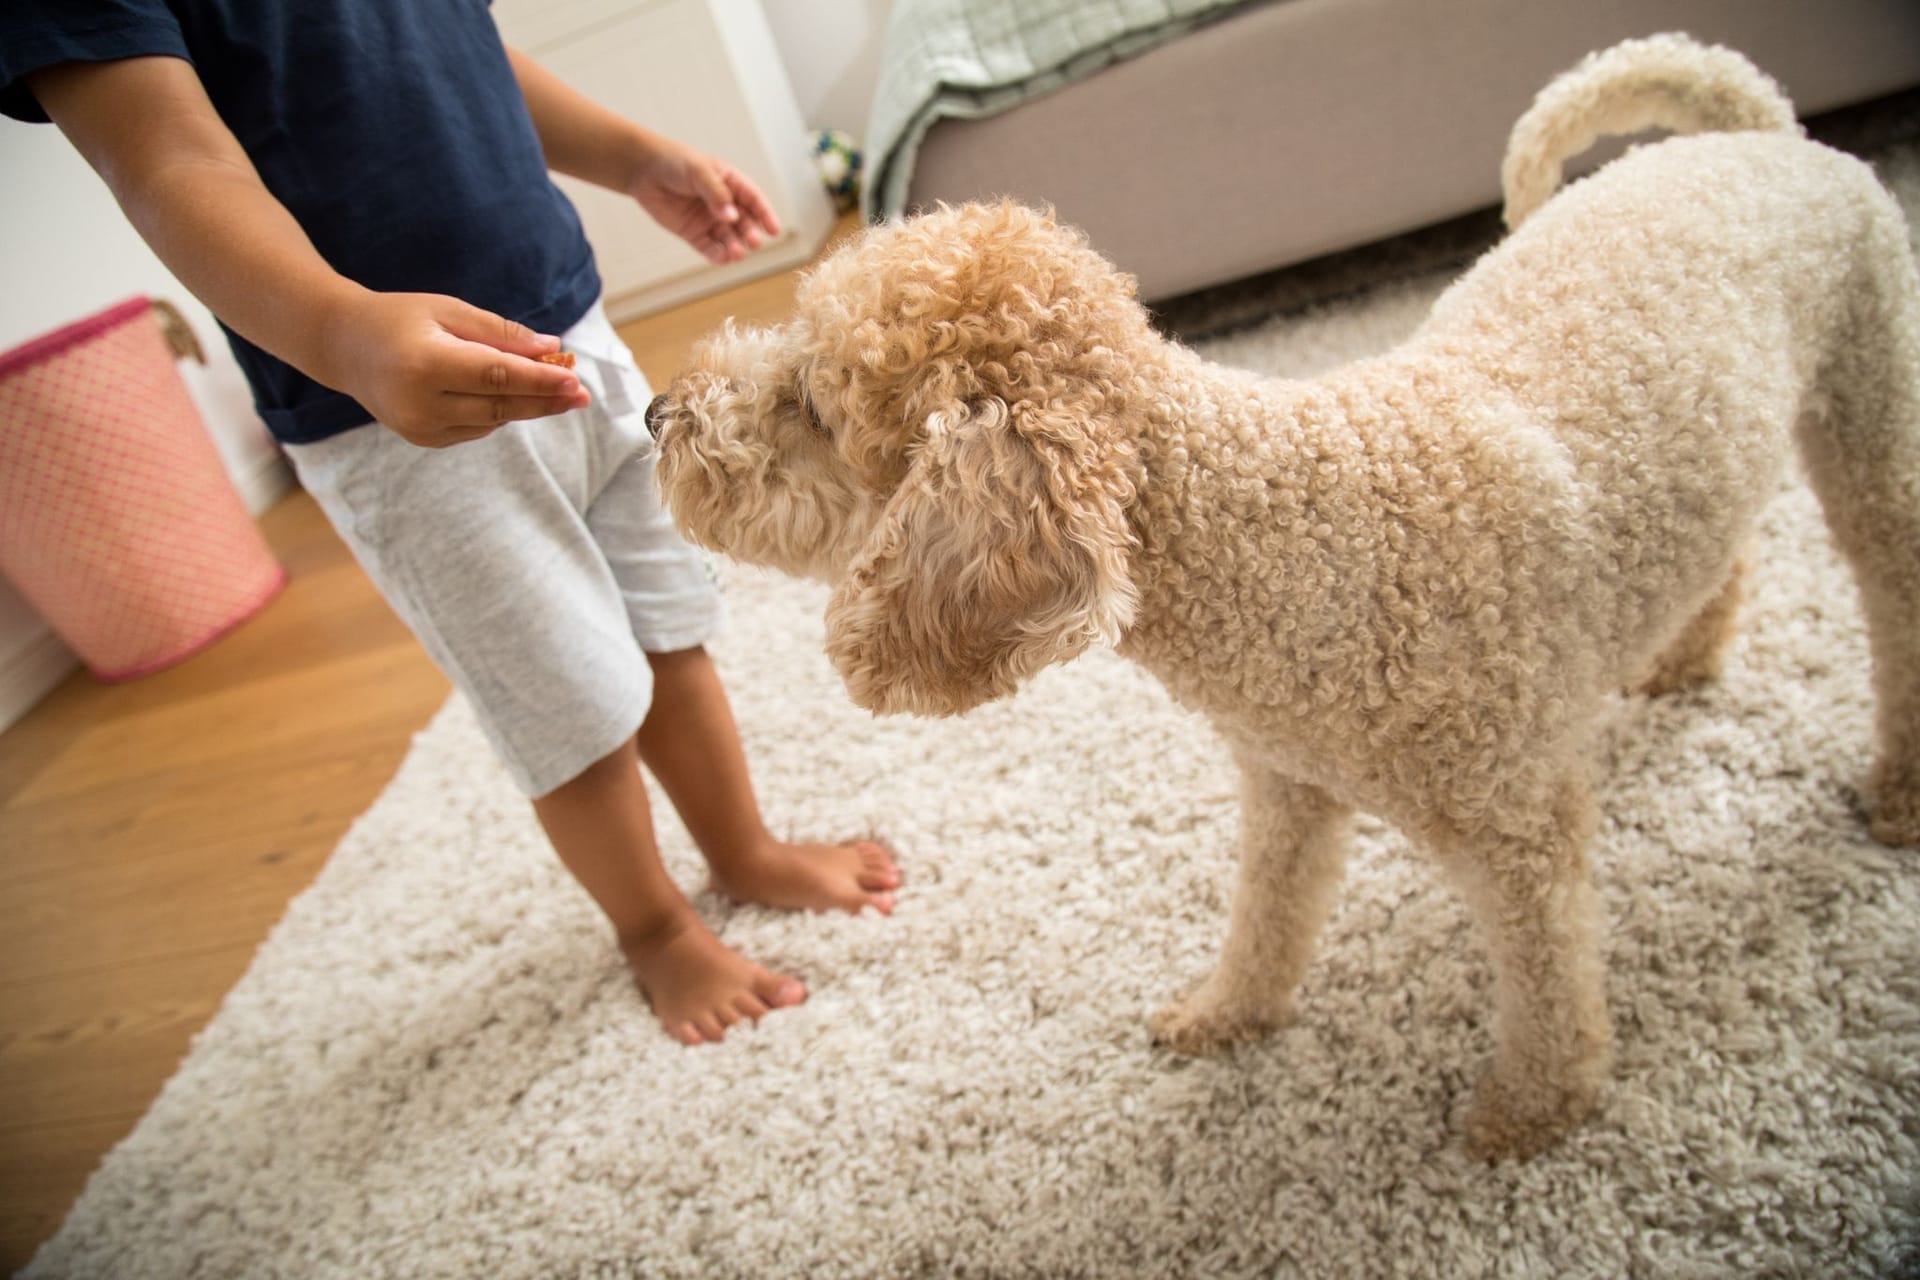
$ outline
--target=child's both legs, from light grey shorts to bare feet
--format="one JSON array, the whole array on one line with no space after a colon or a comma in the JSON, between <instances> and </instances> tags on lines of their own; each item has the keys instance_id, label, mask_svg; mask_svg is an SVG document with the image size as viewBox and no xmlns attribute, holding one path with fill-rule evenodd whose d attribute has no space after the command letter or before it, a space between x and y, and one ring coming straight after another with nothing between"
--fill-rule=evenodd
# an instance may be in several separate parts
<instances>
[{"instance_id":1,"label":"child's both legs, from light grey shorts to bare feet","mask_svg":"<svg viewBox=\"0 0 1920 1280\"><path fill-rule=\"evenodd\" d=\"M641 756L735 896L889 910L899 875L872 844L768 837L712 664L680 652L712 631L720 599L659 507L645 382L605 317L589 320L568 334L599 349L580 367L589 409L453 449L369 424L288 455L472 702L515 785L538 796L547 839L612 921L660 1019L685 1042L716 1040L806 990L695 917L660 867Z\"/></svg>"}]
</instances>

